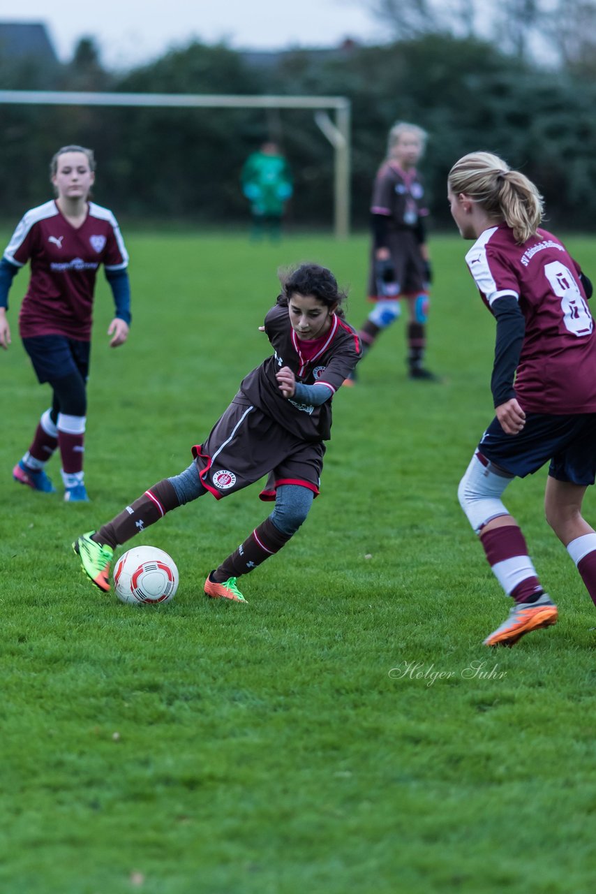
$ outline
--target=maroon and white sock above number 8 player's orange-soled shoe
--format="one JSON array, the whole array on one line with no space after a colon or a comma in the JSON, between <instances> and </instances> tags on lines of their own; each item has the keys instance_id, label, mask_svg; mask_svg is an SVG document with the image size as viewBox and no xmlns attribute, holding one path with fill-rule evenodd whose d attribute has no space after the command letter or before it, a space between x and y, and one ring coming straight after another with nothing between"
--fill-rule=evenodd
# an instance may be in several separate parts
<instances>
[{"instance_id":1,"label":"maroon and white sock above number 8 player's orange-soled shoe","mask_svg":"<svg viewBox=\"0 0 596 894\"><path fill-rule=\"evenodd\" d=\"M516 603L533 603L542 595L525 536L516 524L493 527L485 534L481 531L480 542L499 584ZM507 562L506 570L495 568L501 562Z\"/></svg>"}]
</instances>

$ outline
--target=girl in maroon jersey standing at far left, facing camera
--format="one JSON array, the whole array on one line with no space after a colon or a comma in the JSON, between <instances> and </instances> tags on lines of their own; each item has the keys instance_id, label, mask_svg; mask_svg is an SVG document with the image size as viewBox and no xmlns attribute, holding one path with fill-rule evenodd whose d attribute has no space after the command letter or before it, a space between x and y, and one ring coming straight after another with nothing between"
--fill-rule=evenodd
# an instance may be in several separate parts
<instances>
[{"instance_id":1,"label":"girl in maroon jersey standing at far left, facing camera","mask_svg":"<svg viewBox=\"0 0 596 894\"><path fill-rule=\"evenodd\" d=\"M88 200L95 181L91 149L64 146L50 164L56 198L31 208L13 233L0 261L0 345L11 343L6 318L15 274L30 261L30 280L19 315L25 350L40 384L52 389L29 450L13 468L14 480L55 493L46 463L60 451L64 499L88 501L83 450L87 379L97 269L104 265L113 291L115 316L110 347L126 342L130 325L129 257L111 211Z\"/></svg>"}]
</instances>

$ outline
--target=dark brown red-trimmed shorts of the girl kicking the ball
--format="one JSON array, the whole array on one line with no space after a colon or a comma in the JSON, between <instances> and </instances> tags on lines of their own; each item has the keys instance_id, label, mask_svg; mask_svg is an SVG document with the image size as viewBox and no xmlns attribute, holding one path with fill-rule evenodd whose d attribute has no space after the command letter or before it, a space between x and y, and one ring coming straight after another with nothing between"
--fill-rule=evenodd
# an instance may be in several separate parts
<instances>
[{"instance_id":1,"label":"dark brown red-trimmed shorts of the girl kicking the ball","mask_svg":"<svg viewBox=\"0 0 596 894\"><path fill-rule=\"evenodd\" d=\"M199 477L216 500L268 476L261 500L274 500L280 485L302 485L319 493L323 443L308 443L237 394L192 455Z\"/></svg>"}]
</instances>

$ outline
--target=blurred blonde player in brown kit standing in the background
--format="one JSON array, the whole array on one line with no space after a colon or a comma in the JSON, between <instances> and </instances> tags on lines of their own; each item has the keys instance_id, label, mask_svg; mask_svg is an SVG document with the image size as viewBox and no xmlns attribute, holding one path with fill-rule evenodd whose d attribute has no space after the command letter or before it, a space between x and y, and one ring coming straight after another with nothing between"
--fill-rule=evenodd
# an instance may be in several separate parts
<instances>
[{"instance_id":1,"label":"blurred blonde player in brown kit standing in the background","mask_svg":"<svg viewBox=\"0 0 596 894\"><path fill-rule=\"evenodd\" d=\"M365 352L370 350L382 330L398 319L399 299L405 299L408 375L435 382L438 377L424 367L432 268L424 225L428 215L424 183L416 169L426 139L426 131L407 122L394 124L389 132L387 157L374 180L371 205L368 297L375 308L359 335Z\"/></svg>"}]
</instances>

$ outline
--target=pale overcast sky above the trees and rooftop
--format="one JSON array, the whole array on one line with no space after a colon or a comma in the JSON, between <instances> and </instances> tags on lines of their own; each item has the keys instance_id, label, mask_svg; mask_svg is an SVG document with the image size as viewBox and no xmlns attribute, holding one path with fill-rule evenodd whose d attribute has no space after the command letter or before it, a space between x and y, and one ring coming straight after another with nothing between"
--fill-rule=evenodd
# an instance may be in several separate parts
<instances>
[{"instance_id":1,"label":"pale overcast sky above the trees and rooftop","mask_svg":"<svg viewBox=\"0 0 596 894\"><path fill-rule=\"evenodd\" d=\"M92 36L105 65L122 69L193 38L234 49L382 39L366 0L25 0L21 9L0 0L0 21L44 22L63 62L79 38Z\"/></svg>"}]
</instances>

